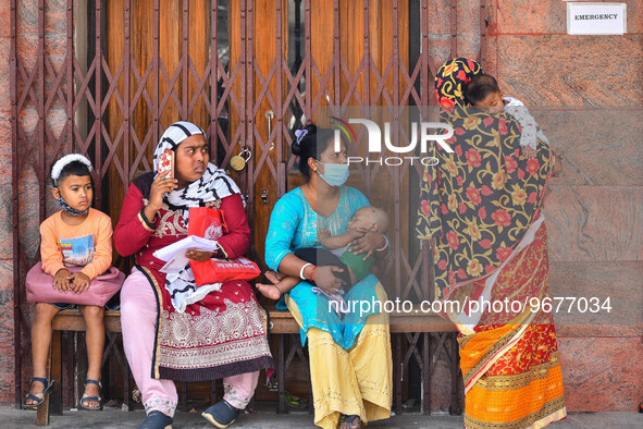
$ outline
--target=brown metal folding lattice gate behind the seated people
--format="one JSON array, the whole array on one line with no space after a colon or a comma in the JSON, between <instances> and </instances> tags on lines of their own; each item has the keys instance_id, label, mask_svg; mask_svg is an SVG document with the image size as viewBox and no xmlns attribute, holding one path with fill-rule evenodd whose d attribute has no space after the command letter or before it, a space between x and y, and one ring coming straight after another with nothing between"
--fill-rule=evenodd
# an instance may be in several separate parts
<instances>
[{"instance_id":1,"label":"brown metal folding lattice gate behind the seated people","mask_svg":"<svg viewBox=\"0 0 643 429\"><path fill-rule=\"evenodd\" d=\"M261 257L270 209L296 182L288 180L296 160L288 150L294 127L314 119L320 106L434 103L435 61L429 52L430 5L435 3L33 0L21 1L18 8L17 0L11 0L16 405L22 402L22 359L28 350L21 285L39 255L35 226L52 203L48 174L61 154L89 156L96 169L95 207L118 218L127 185L138 172L150 170L151 151L174 120L198 122L218 148L212 154L221 166L243 148L251 149L248 168L233 176L247 195ZM450 8L453 57L458 51L457 1L437 3ZM479 7L479 59L484 62L485 1ZM37 20L29 24L26 15ZM24 39L35 39L35 49L21 48ZM421 166L359 170L369 198L378 199L370 194L383 175L394 184L386 203L396 213L392 257L384 263L383 279L388 292L403 299L409 294L433 297L429 249L409 243L408 228L404 230L405 216L415 207L403 193L420 174ZM34 206L37 217L21 216ZM457 347L446 334L437 334L434 346L430 333L396 336L399 412L403 367L411 356L426 369L428 382L441 351L457 370ZM425 412L428 401L426 394Z\"/></svg>"}]
</instances>

